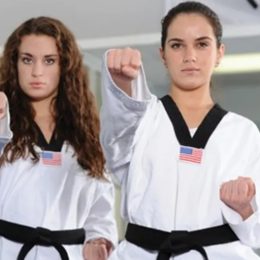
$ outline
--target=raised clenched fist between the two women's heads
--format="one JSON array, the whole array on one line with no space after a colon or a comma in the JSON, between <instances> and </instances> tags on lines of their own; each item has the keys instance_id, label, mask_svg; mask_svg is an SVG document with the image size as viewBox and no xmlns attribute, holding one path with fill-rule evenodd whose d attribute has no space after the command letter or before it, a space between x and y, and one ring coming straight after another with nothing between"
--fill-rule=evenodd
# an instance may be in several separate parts
<instances>
[{"instance_id":1,"label":"raised clenched fist between the two women's heads","mask_svg":"<svg viewBox=\"0 0 260 260\"><path fill-rule=\"evenodd\" d=\"M111 49L107 54L107 67L113 81L131 96L131 82L136 79L142 61L136 49Z\"/></svg>"}]
</instances>

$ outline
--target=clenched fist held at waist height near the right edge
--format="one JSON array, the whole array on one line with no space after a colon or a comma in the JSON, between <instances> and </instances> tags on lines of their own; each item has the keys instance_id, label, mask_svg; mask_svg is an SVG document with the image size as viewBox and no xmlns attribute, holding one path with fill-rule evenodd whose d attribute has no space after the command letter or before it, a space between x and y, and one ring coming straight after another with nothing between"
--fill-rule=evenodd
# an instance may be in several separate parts
<instances>
[{"instance_id":1,"label":"clenched fist held at waist height near the right edge","mask_svg":"<svg viewBox=\"0 0 260 260\"><path fill-rule=\"evenodd\" d=\"M251 200L255 196L255 184L251 178L238 177L222 184L220 199L245 220L253 214Z\"/></svg>"}]
</instances>

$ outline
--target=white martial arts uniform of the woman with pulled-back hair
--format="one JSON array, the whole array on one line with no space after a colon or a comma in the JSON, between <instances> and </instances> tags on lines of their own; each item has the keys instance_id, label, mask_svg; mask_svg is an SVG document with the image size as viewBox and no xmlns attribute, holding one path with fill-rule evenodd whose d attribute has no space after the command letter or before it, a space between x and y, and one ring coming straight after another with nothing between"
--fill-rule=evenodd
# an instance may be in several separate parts
<instances>
[{"instance_id":1,"label":"white martial arts uniform of the woman with pulled-back hair","mask_svg":"<svg viewBox=\"0 0 260 260\"><path fill-rule=\"evenodd\" d=\"M106 59L106 58L105 58ZM106 62L104 62L106 64ZM228 112L211 134L201 163L179 159L180 143L160 100L152 95L143 69L129 97L103 66L101 142L109 169L121 184L121 212L133 224L170 232L229 223L239 241L208 246L210 260L260 259L260 134L250 120ZM256 184L255 213L243 221L219 198L223 182L250 176ZM126 240L110 260L155 260ZM171 258L173 259L173 258ZM197 251L174 257L202 259Z\"/></svg>"}]
</instances>

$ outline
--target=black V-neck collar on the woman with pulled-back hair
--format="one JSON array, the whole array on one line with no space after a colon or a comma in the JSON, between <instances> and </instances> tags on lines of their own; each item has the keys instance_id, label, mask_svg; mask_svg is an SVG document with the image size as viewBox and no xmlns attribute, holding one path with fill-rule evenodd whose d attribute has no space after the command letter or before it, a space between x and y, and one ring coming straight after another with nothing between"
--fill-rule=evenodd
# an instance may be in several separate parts
<instances>
[{"instance_id":1,"label":"black V-neck collar on the woman with pulled-back hair","mask_svg":"<svg viewBox=\"0 0 260 260\"><path fill-rule=\"evenodd\" d=\"M227 113L226 110L215 104L199 125L195 135L191 137L189 128L172 98L166 95L161 98L161 101L172 122L179 143L190 147L205 148L211 134Z\"/></svg>"}]
</instances>

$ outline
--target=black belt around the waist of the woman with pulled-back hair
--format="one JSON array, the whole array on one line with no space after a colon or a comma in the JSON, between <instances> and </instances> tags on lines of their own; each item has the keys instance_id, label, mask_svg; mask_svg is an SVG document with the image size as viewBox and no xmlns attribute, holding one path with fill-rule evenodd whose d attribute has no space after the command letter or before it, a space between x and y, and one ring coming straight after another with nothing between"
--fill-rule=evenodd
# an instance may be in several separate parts
<instances>
[{"instance_id":1,"label":"black belt around the waist of the woman with pulled-back hair","mask_svg":"<svg viewBox=\"0 0 260 260\"><path fill-rule=\"evenodd\" d=\"M128 224L126 240L147 250L159 251L157 260L169 260L189 252L198 251L208 260L204 246L224 244L238 240L229 225L221 225L195 231L166 232L135 224Z\"/></svg>"}]
</instances>

